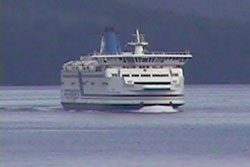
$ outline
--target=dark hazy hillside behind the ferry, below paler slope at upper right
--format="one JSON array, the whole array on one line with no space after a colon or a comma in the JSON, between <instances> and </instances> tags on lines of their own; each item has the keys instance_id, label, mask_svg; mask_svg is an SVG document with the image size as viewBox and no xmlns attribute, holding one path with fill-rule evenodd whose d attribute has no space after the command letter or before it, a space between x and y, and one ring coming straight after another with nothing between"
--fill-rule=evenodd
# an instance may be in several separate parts
<instances>
[{"instance_id":1,"label":"dark hazy hillside behind the ferry, below paler slope at upper right","mask_svg":"<svg viewBox=\"0 0 250 167\"><path fill-rule=\"evenodd\" d=\"M250 83L250 21L183 15L123 1L2 3L1 84L59 84L64 62L99 50L104 27L122 46L139 28L148 50L191 50L187 83ZM124 48L124 47L123 47Z\"/></svg>"}]
</instances>

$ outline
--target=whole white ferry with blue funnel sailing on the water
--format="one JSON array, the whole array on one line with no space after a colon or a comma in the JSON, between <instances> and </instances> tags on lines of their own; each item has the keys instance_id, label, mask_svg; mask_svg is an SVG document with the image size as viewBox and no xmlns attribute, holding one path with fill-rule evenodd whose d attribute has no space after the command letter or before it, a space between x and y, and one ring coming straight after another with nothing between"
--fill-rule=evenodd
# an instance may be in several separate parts
<instances>
[{"instance_id":1,"label":"whole white ferry with blue funnel sailing on the water","mask_svg":"<svg viewBox=\"0 0 250 167\"><path fill-rule=\"evenodd\" d=\"M61 104L66 110L141 109L184 104L185 52L149 52L136 30L122 52L114 29L105 28L99 52L69 61L61 70Z\"/></svg>"}]
</instances>

